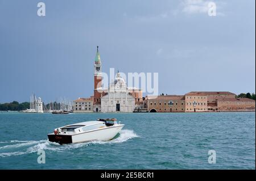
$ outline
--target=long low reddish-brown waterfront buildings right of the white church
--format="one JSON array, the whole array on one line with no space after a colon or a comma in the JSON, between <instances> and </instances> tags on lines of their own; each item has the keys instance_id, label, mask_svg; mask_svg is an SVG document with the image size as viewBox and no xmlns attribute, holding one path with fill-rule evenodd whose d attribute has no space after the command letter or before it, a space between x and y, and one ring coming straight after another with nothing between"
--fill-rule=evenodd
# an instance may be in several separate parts
<instances>
[{"instance_id":1,"label":"long low reddish-brown waterfront buildings right of the white church","mask_svg":"<svg viewBox=\"0 0 256 181\"><path fill-rule=\"evenodd\" d=\"M146 96L148 112L255 111L255 100L236 98L232 92L188 92L183 95Z\"/></svg>"}]
</instances>

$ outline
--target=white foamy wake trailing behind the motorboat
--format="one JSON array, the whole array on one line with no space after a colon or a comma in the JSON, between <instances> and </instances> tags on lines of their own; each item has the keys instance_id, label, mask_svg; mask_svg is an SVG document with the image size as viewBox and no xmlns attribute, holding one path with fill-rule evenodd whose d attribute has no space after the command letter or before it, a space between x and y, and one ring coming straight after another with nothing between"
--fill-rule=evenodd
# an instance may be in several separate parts
<instances>
[{"instance_id":1,"label":"white foamy wake trailing behind the motorboat","mask_svg":"<svg viewBox=\"0 0 256 181\"><path fill-rule=\"evenodd\" d=\"M11 157L15 155L23 155L35 153L38 150L48 150L64 153L75 153L77 148L82 148L84 146L97 145L97 144L117 144L125 142L132 138L139 137L133 130L123 129L113 140L110 141L90 141L81 144L67 144L59 145L48 140L39 141L1 141L0 142L0 158L1 157Z\"/></svg>"}]
</instances>

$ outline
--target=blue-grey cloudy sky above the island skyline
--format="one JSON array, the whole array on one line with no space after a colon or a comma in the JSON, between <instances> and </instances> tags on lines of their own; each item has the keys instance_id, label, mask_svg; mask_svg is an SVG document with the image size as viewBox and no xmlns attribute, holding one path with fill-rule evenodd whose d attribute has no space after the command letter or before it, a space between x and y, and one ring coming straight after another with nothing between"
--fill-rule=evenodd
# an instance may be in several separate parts
<instances>
[{"instance_id":1,"label":"blue-grey cloudy sky above the island skyline","mask_svg":"<svg viewBox=\"0 0 256 181\"><path fill-rule=\"evenodd\" d=\"M93 94L103 70L159 73L159 93L255 92L255 1L0 0L0 102Z\"/></svg>"}]
</instances>

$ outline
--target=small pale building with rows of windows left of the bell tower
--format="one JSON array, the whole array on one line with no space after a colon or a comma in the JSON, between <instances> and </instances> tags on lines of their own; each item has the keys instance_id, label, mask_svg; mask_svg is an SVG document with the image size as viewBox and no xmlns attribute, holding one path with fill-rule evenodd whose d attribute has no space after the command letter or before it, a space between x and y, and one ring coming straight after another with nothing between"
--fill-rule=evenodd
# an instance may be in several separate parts
<instances>
[{"instance_id":1,"label":"small pale building with rows of windows left of the bell tower","mask_svg":"<svg viewBox=\"0 0 256 181\"><path fill-rule=\"evenodd\" d=\"M78 98L73 100L73 112L93 112L93 96L90 98Z\"/></svg>"}]
</instances>

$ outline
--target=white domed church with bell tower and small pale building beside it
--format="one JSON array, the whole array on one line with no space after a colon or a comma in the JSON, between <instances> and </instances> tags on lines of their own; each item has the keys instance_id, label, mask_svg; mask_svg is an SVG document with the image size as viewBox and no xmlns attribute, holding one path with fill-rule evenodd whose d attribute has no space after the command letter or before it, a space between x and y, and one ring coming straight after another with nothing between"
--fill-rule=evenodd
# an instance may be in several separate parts
<instances>
[{"instance_id":1,"label":"white domed church with bell tower and small pale building beside it","mask_svg":"<svg viewBox=\"0 0 256 181\"><path fill-rule=\"evenodd\" d=\"M89 104L86 102L90 102L90 105L92 105L90 110L88 110L88 107L82 107ZM114 81L110 82L109 87L103 87L102 61L97 47L94 60L93 96L74 100L74 112L133 112L142 107L142 90L137 87L127 87L119 72Z\"/></svg>"}]
</instances>

